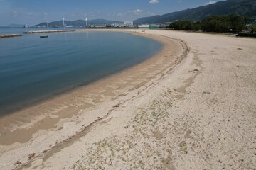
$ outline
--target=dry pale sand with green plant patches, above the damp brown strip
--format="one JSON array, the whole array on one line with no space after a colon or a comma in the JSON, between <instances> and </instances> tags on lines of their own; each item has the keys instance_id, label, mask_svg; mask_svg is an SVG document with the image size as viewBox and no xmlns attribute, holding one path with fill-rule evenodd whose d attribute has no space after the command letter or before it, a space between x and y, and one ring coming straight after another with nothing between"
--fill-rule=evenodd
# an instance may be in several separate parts
<instances>
[{"instance_id":1,"label":"dry pale sand with green plant patches, above the damp brown strip","mask_svg":"<svg viewBox=\"0 0 256 170\"><path fill-rule=\"evenodd\" d=\"M81 117L88 110L60 130L41 130L28 142L2 146L0 169L255 169L256 39L143 33L180 44L174 58L182 58L185 42L187 57L91 109L100 118L77 135L70 137L81 118L93 120ZM49 145L49 138L60 135L63 142Z\"/></svg>"}]
</instances>

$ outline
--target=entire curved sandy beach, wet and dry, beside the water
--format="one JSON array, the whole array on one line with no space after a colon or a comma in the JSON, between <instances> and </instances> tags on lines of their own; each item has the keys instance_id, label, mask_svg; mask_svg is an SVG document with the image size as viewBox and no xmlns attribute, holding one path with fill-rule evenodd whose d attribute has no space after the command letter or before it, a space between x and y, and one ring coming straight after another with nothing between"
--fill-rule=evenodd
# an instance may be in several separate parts
<instances>
[{"instance_id":1,"label":"entire curved sandy beach, wet and dry, beside the water","mask_svg":"<svg viewBox=\"0 0 256 170\"><path fill-rule=\"evenodd\" d=\"M1 118L0 169L255 169L255 38L108 31L163 49Z\"/></svg>"}]
</instances>

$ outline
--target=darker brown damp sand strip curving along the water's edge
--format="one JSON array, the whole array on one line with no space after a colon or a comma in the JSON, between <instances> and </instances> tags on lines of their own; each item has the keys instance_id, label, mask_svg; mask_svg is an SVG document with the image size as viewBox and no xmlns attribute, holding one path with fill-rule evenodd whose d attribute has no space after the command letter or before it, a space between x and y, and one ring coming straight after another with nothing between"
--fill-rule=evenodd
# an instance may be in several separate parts
<instances>
[{"instance_id":1,"label":"darker brown damp sand strip curving along the water's edge","mask_svg":"<svg viewBox=\"0 0 256 170\"><path fill-rule=\"evenodd\" d=\"M129 33L123 30L111 31ZM88 113L90 110L95 110L95 108L101 106L102 103L112 103L110 108L114 108L117 103L113 102L117 102L120 97L127 96L130 91L139 89L139 87L144 86L151 79L154 79L161 71L166 69L166 67L173 64L172 62L169 63L170 61L176 60L176 57L174 58L174 52L177 54L181 52L181 45L174 40L169 41L169 38L142 35L141 33L133 34L158 40L163 43L163 49L159 54L127 70L87 86L79 87L47 101L43 101L36 106L31 106L17 113L4 116L0 119L2 134L0 137L0 153L3 154L9 152L11 148L31 143L34 138L36 139L38 136L46 135L48 131L54 132L62 130L63 127L65 127L65 123L74 120L75 117L83 115L83 119L88 119L86 121L83 120L85 121L85 127L94 123L95 120L105 117L106 113L90 113L92 115ZM170 46L173 46L174 49L170 49ZM169 57L170 55L171 57ZM159 69L159 67L161 67L161 69ZM87 91L89 91L89 93ZM86 112L88 113L86 114ZM81 130L80 128L81 127L77 130ZM75 130L65 137L60 137L58 142L61 142L68 136L72 136L72 134L75 134Z\"/></svg>"}]
</instances>

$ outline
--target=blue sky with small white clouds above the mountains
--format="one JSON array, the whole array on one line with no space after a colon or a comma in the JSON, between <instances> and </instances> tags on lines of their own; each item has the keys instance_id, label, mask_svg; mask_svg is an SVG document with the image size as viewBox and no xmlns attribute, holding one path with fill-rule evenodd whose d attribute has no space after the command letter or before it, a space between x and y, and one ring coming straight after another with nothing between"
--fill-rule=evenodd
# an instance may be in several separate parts
<instances>
[{"instance_id":1,"label":"blue sky with small white clouds above the mountains","mask_svg":"<svg viewBox=\"0 0 256 170\"><path fill-rule=\"evenodd\" d=\"M108 19L133 21L220 0L0 0L0 26L45 21Z\"/></svg>"}]
</instances>

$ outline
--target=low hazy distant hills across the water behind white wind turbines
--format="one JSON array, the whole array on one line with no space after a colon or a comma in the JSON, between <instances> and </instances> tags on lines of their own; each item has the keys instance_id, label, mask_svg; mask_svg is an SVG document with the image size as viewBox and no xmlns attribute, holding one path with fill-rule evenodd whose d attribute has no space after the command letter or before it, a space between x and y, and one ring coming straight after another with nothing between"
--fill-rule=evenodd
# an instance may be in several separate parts
<instances>
[{"instance_id":1,"label":"low hazy distant hills across the water behind white wind turbines","mask_svg":"<svg viewBox=\"0 0 256 170\"><path fill-rule=\"evenodd\" d=\"M121 21L108 21L104 19L95 19L95 20L88 20L87 25L102 25L102 24L111 24L111 23L123 23ZM85 26L85 20L75 20L75 21L65 21L66 26ZM47 26L47 23L39 23L36 26ZM48 23L48 26L63 26L63 21L53 21Z\"/></svg>"}]
</instances>

